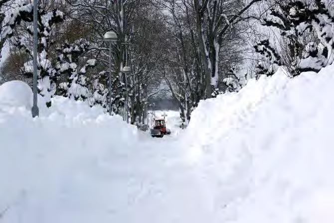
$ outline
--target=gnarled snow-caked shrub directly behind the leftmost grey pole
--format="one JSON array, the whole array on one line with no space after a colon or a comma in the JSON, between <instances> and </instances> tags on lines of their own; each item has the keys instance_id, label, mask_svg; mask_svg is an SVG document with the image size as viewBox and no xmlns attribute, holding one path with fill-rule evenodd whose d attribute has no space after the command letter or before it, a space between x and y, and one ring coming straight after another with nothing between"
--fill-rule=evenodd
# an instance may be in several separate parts
<instances>
[{"instance_id":1,"label":"gnarled snow-caked shrub directly behind the leftmost grey pole","mask_svg":"<svg viewBox=\"0 0 334 223\"><path fill-rule=\"evenodd\" d=\"M53 97L56 91L56 71L52 66L51 61L48 58L48 48L49 48L49 37L51 29L54 24L63 21L64 14L58 9L53 9L52 11L44 10L43 8L38 8L38 92L42 95L46 101L46 106L51 106L51 97ZM25 52L32 55L32 22L33 22L33 4L22 4L16 7L8 21L4 25L4 28L1 30L1 40L10 38L13 35L14 27L19 24L21 21L27 22L26 32L28 35L19 35L16 36L15 45L19 49L24 49ZM27 75L32 75L33 73L33 60L27 61L22 70Z\"/></svg>"}]
</instances>

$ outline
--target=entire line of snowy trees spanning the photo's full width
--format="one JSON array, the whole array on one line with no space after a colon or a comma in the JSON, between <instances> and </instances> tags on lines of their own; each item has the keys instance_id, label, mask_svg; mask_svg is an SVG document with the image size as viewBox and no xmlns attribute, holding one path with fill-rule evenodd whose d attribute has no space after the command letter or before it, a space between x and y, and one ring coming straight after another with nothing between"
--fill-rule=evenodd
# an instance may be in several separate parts
<instances>
[{"instance_id":1,"label":"entire line of snowy trees spanning the photo's full width","mask_svg":"<svg viewBox=\"0 0 334 223\"><path fill-rule=\"evenodd\" d=\"M10 49L1 75L31 84L32 5L16 2L0 0L0 48ZM200 100L239 91L250 78L331 64L333 22L322 0L40 0L38 90L47 106L61 95L106 111L112 101L116 114L127 100L132 124L170 92L187 122ZM107 31L118 36L112 58Z\"/></svg>"}]
</instances>

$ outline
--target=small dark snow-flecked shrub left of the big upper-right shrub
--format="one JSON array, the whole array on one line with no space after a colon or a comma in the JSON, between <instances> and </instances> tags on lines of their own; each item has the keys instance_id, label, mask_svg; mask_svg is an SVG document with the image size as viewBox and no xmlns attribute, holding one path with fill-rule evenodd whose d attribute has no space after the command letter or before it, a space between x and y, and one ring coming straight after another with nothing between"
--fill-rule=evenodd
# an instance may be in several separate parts
<instances>
[{"instance_id":1,"label":"small dark snow-flecked shrub left of the big upper-right shrub","mask_svg":"<svg viewBox=\"0 0 334 223\"><path fill-rule=\"evenodd\" d=\"M260 61L256 67L256 78L264 74L272 76L281 65L281 57L277 53L274 46L269 42L269 39L263 39L254 46L255 52L260 54Z\"/></svg>"}]
</instances>

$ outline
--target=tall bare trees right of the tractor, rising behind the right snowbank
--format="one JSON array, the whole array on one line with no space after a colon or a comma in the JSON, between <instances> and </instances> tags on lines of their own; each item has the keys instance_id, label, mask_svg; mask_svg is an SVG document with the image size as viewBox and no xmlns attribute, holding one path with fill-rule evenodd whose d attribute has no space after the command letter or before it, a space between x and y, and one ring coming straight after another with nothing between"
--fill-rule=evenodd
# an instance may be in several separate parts
<instances>
[{"instance_id":1,"label":"tall bare trees right of the tractor, rising behind the right snowbank","mask_svg":"<svg viewBox=\"0 0 334 223\"><path fill-rule=\"evenodd\" d=\"M160 3L168 11L170 49L161 65L162 73L179 102L182 121L190 120L200 100L216 97L219 89L232 89L235 81L226 78L234 78L230 71L241 63L242 53L247 50L244 37L250 29L247 23L252 17L250 9L260 1L164 0Z\"/></svg>"}]
</instances>

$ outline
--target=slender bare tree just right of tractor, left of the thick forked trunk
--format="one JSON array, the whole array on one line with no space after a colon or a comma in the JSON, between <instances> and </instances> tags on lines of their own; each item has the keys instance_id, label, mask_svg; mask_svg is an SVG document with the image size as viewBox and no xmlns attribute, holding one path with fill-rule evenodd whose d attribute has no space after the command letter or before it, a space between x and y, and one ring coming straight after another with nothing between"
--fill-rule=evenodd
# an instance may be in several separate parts
<instances>
[{"instance_id":1,"label":"slender bare tree just right of tractor, left of the thick forked trunk","mask_svg":"<svg viewBox=\"0 0 334 223\"><path fill-rule=\"evenodd\" d=\"M205 96L205 73L195 37L193 11L186 1L165 0L162 7L170 13L167 22L168 49L161 69L172 96L179 104L183 122Z\"/></svg>"}]
</instances>

